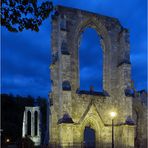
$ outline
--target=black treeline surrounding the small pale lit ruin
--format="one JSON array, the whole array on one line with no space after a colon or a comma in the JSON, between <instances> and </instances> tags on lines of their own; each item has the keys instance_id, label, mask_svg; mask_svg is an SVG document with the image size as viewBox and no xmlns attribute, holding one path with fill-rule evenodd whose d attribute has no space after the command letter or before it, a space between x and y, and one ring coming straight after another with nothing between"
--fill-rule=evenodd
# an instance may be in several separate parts
<instances>
[{"instance_id":1,"label":"black treeline surrounding the small pale lit ruin","mask_svg":"<svg viewBox=\"0 0 148 148\"><path fill-rule=\"evenodd\" d=\"M22 140L22 124L25 106L40 106L42 141L46 131L47 100L45 98L33 98L32 96L19 96L1 94L1 143L18 143Z\"/></svg>"}]
</instances>

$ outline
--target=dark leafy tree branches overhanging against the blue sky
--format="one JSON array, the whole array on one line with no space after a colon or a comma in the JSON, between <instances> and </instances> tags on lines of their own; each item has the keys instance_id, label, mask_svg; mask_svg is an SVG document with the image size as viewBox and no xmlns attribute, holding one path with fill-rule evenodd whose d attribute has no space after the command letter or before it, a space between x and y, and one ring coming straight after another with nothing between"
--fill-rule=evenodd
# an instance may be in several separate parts
<instances>
[{"instance_id":1,"label":"dark leafy tree branches overhanging against the blue sky","mask_svg":"<svg viewBox=\"0 0 148 148\"><path fill-rule=\"evenodd\" d=\"M1 25L10 32L21 32L24 29L39 31L39 26L50 15L53 4L37 0L2 0Z\"/></svg>"}]
</instances>

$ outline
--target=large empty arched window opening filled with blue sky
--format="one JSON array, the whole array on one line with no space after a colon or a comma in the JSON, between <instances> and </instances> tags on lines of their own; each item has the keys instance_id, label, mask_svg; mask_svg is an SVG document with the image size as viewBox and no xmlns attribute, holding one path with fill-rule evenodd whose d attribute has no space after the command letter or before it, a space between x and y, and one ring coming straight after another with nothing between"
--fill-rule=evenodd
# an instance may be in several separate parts
<instances>
[{"instance_id":1,"label":"large empty arched window opening filled with blue sky","mask_svg":"<svg viewBox=\"0 0 148 148\"><path fill-rule=\"evenodd\" d=\"M79 49L80 90L103 90L102 53L97 32L92 28L85 29Z\"/></svg>"}]
</instances>

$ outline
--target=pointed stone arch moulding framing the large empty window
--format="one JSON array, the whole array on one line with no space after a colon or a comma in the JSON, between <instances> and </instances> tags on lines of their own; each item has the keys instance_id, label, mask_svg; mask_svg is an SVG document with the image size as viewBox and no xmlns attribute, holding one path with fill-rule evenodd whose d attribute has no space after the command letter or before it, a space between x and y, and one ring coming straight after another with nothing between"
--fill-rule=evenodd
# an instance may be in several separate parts
<instances>
[{"instance_id":1,"label":"pointed stone arch moulding framing the large empty window","mask_svg":"<svg viewBox=\"0 0 148 148\"><path fill-rule=\"evenodd\" d=\"M108 83L109 79L110 79L110 75L106 75L106 73L110 73L110 68L109 68L109 62L110 62L110 55L109 52L111 50L111 39L110 39L110 35L108 33L107 28L102 24L101 21L99 21L97 18L93 19L93 18L88 18L86 20L83 20L79 23L79 25L77 25L76 30L75 30L75 34L74 34L74 50L72 51L72 56L77 59L75 61L72 61L74 64L72 66L72 69L74 69L76 71L76 73L73 74L73 77L75 79L77 79L78 81L75 82L75 84L73 84L74 88L77 89L80 87L80 77L79 77L79 46L80 46L80 39L81 39L81 35L83 33L83 31L86 28L93 28L98 36L100 36L101 38L101 46L102 46L102 53L103 53L103 89L104 90L109 90L109 85L110 83ZM106 68L105 68L106 67Z\"/></svg>"}]
</instances>

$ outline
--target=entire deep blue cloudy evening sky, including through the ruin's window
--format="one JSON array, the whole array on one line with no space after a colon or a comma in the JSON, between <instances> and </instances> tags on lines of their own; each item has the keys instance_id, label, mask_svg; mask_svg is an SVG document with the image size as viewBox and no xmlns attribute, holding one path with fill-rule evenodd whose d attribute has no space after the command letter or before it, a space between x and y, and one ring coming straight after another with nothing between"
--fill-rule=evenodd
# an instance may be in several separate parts
<instances>
[{"instance_id":1,"label":"entire deep blue cloudy evening sky, including through the ruin's window","mask_svg":"<svg viewBox=\"0 0 148 148\"><path fill-rule=\"evenodd\" d=\"M54 4L118 18L130 30L132 80L137 90L147 88L147 0L59 0ZM10 33L2 27L2 93L48 97L50 91L51 20L38 33ZM93 38L92 38L93 36ZM91 50L90 50L91 49ZM87 50L87 52L86 52ZM81 88L101 90L102 50L93 29L86 29L80 46ZM91 79L90 79L91 78Z\"/></svg>"}]
</instances>

